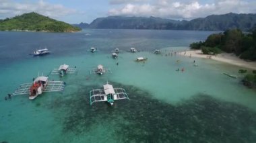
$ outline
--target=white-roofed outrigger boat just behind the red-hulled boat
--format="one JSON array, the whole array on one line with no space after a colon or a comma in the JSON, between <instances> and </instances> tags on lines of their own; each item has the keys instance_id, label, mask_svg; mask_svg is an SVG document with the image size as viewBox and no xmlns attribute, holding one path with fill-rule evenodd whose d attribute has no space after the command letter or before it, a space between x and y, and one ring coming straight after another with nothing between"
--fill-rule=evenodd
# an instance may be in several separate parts
<instances>
[{"instance_id":1,"label":"white-roofed outrigger boat just behind the red-hulled boat","mask_svg":"<svg viewBox=\"0 0 256 143\"><path fill-rule=\"evenodd\" d=\"M67 75L67 74L73 74L75 73L75 71L76 71L76 67L69 68L69 65L63 64L59 66L59 69L54 68L53 71L51 72L51 75L60 75L61 77L63 77L64 75Z\"/></svg>"}]
</instances>

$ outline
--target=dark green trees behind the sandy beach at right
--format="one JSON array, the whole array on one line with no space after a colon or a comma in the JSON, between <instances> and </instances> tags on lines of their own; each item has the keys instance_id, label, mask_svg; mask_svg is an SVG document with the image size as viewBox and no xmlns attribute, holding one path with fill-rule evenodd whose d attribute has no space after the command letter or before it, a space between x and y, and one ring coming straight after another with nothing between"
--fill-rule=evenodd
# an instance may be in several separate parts
<instances>
[{"instance_id":1,"label":"dark green trees behind the sandy beach at right","mask_svg":"<svg viewBox=\"0 0 256 143\"><path fill-rule=\"evenodd\" d=\"M246 34L238 29L212 34L205 42L195 42L190 47L202 49L204 54L218 54L222 50L245 60L256 60L256 28Z\"/></svg>"}]
</instances>

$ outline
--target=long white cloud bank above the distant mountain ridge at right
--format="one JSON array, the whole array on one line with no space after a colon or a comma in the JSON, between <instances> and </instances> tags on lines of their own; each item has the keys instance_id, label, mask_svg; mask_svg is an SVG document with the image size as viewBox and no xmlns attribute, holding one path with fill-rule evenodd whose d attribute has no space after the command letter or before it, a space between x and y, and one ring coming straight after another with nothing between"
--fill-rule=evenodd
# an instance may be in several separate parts
<instances>
[{"instance_id":1,"label":"long white cloud bank above the distant mountain ridge at right","mask_svg":"<svg viewBox=\"0 0 256 143\"><path fill-rule=\"evenodd\" d=\"M151 4L126 4L110 9L108 15L156 16L172 19L193 19L212 14L256 13L256 1L215 0L212 3L200 1L158 0Z\"/></svg>"}]
</instances>

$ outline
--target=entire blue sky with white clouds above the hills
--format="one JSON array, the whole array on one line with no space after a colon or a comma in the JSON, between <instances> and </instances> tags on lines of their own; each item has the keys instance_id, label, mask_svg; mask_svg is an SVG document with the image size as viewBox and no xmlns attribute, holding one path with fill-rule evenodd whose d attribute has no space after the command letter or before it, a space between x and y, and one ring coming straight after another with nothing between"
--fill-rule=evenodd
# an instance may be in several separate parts
<instances>
[{"instance_id":1,"label":"entire blue sky with white clouds above the hills","mask_svg":"<svg viewBox=\"0 0 256 143\"><path fill-rule=\"evenodd\" d=\"M0 0L0 19L35 11L68 23L109 15L193 19L212 14L256 13L255 0Z\"/></svg>"}]
</instances>

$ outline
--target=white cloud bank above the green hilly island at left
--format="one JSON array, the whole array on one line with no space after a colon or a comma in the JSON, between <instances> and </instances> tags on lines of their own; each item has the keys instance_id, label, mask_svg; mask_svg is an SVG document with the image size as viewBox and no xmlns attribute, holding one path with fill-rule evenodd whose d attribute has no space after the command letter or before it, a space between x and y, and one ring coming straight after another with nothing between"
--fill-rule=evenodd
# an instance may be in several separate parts
<instances>
[{"instance_id":1,"label":"white cloud bank above the green hilly island at left","mask_svg":"<svg viewBox=\"0 0 256 143\"><path fill-rule=\"evenodd\" d=\"M63 17L76 12L75 9L69 9L60 4L46 3L43 0L35 3L19 3L9 0L0 0L0 19L32 11L54 18Z\"/></svg>"}]
</instances>

